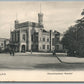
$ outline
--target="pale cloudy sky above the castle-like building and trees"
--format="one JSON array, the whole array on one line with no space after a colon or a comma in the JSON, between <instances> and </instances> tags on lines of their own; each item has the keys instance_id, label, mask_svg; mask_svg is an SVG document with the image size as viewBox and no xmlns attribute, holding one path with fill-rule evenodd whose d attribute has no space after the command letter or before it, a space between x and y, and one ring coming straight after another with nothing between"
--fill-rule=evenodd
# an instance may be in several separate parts
<instances>
[{"instance_id":1,"label":"pale cloudy sky above the castle-like building and trees","mask_svg":"<svg viewBox=\"0 0 84 84\"><path fill-rule=\"evenodd\" d=\"M14 21L38 22L38 13L43 13L43 24L46 30L57 30L60 33L82 18L84 1L1 1L0 2L0 38L9 38L14 29Z\"/></svg>"}]
</instances>

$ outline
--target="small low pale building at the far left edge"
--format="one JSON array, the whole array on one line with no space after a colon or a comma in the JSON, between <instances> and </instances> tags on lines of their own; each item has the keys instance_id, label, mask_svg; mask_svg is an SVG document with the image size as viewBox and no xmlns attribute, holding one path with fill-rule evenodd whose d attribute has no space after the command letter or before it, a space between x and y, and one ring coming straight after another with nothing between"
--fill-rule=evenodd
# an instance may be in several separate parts
<instances>
[{"instance_id":1,"label":"small low pale building at the far left edge","mask_svg":"<svg viewBox=\"0 0 84 84\"><path fill-rule=\"evenodd\" d=\"M0 52L5 51L5 49L8 48L9 42L9 39L0 38Z\"/></svg>"}]
</instances>

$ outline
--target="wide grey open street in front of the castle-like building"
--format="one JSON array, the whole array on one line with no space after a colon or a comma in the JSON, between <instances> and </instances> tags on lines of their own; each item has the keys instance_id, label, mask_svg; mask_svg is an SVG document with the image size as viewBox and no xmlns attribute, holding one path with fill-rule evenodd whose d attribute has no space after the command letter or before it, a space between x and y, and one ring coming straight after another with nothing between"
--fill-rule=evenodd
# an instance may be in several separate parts
<instances>
[{"instance_id":1,"label":"wide grey open street in front of the castle-like building","mask_svg":"<svg viewBox=\"0 0 84 84\"><path fill-rule=\"evenodd\" d=\"M0 69L84 70L84 58L57 55L63 63L52 54L16 53L15 56L10 56L8 53L0 54Z\"/></svg>"}]
</instances>

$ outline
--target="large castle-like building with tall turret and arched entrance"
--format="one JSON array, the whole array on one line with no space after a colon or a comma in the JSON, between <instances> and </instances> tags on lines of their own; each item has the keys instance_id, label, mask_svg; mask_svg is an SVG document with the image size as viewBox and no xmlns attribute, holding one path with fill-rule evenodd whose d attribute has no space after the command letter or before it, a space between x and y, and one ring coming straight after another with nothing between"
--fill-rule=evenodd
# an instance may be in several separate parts
<instances>
[{"instance_id":1,"label":"large castle-like building with tall turret and arched entrance","mask_svg":"<svg viewBox=\"0 0 84 84\"><path fill-rule=\"evenodd\" d=\"M16 45L16 51L53 51L59 44L60 33L46 31L43 14L38 13L38 23L15 20L15 29L11 32L10 43Z\"/></svg>"}]
</instances>

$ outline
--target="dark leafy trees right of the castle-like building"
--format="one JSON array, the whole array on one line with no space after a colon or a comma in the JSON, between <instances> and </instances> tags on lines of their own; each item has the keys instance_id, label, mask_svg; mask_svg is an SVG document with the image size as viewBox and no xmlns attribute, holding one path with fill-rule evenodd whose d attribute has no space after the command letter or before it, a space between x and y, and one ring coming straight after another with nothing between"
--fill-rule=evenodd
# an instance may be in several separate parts
<instances>
[{"instance_id":1,"label":"dark leafy trees right of the castle-like building","mask_svg":"<svg viewBox=\"0 0 84 84\"><path fill-rule=\"evenodd\" d=\"M81 14L84 15L84 10ZM62 44L69 55L84 56L84 17L77 20L74 26L69 27L62 38Z\"/></svg>"}]
</instances>

